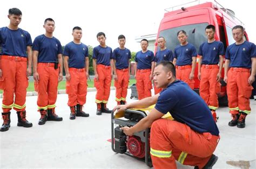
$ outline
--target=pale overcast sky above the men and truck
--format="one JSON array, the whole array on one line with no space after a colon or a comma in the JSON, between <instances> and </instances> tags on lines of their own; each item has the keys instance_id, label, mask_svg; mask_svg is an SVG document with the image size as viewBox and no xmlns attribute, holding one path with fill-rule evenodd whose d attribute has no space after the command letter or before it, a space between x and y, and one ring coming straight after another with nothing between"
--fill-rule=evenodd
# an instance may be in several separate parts
<instances>
[{"instance_id":1,"label":"pale overcast sky above the men and truck","mask_svg":"<svg viewBox=\"0 0 256 169\"><path fill-rule=\"evenodd\" d=\"M140 46L134 40L137 36L157 33L164 9L189 1L139 0L139 1L4 1L0 10L0 27L7 26L10 8L19 8L23 12L22 29L30 32L32 40L44 33L45 18L53 18L56 22L54 36L62 45L72 41L72 28L80 26L83 29L82 42L86 45L97 46L96 34L100 31L106 34L106 44L113 49L118 46L119 34L126 36L126 47L137 52ZM200 1L201 3L206 1ZM245 24L249 40L256 43L255 10L253 1L218 1L225 8L231 9Z\"/></svg>"}]
</instances>

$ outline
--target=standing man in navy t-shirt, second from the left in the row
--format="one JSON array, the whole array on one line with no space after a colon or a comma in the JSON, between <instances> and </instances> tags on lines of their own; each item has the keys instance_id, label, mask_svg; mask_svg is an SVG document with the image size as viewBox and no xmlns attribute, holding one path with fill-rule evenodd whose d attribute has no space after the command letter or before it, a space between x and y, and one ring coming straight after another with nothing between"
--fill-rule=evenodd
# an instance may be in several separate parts
<instances>
[{"instance_id":1,"label":"standing man in navy t-shirt, second from the left in the row","mask_svg":"<svg viewBox=\"0 0 256 169\"><path fill-rule=\"evenodd\" d=\"M53 37L55 21L44 20L45 34L33 41L33 78L38 92L37 105L41 114L38 124L46 121L62 121L55 113L58 93L58 82L63 79L62 45Z\"/></svg>"}]
</instances>

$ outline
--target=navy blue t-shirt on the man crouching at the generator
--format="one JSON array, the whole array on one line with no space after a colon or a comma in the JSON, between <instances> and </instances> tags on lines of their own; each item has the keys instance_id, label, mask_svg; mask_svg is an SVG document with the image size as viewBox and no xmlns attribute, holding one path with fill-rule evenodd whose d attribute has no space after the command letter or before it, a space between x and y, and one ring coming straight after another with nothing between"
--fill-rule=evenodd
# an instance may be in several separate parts
<instances>
[{"instance_id":1,"label":"navy blue t-shirt on the man crouching at the generator","mask_svg":"<svg viewBox=\"0 0 256 169\"><path fill-rule=\"evenodd\" d=\"M163 114L190 126L196 132L219 136L219 129L205 101L185 82L176 80L161 91L154 107Z\"/></svg>"}]
</instances>

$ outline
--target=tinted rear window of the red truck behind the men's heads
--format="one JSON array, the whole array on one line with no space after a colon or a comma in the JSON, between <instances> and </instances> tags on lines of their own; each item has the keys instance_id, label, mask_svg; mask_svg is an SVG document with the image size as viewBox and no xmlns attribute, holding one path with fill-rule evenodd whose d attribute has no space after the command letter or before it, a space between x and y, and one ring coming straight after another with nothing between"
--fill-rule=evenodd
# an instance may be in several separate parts
<instances>
[{"instance_id":1,"label":"tinted rear window of the red truck behind the men's heads","mask_svg":"<svg viewBox=\"0 0 256 169\"><path fill-rule=\"evenodd\" d=\"M166 47L169 48L169 50L174 51L174 48L180 44L177 38L177 33L180 30L184 30L186 31L188 36L188 43L193 44L198 51L200 45L207 41L207 38L205 36L205 27L207 25L208 23L201 23L173 27L167 30L160 31L159 37L164 37L166 40Z\"/></svg>"}]
</instances>

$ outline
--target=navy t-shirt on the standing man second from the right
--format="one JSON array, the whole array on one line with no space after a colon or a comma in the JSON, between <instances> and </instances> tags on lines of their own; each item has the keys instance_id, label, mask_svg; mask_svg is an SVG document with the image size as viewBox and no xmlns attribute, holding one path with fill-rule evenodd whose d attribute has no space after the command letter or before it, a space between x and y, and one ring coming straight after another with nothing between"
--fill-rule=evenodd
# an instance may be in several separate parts
<instances>
[{"instance_id":1,"label":"navy t-shirt on the standing man second from the right","mask_svg":"<svg viewBox=\"0 0 256 169\"><path fill-rule=\"evenodd\" d=\"M199 47L198 55L202 56L202 64L217 65L220 61L219 55L224 55L224 45L221 41L203 43Z\"/></svg>"}]
</instances>

